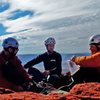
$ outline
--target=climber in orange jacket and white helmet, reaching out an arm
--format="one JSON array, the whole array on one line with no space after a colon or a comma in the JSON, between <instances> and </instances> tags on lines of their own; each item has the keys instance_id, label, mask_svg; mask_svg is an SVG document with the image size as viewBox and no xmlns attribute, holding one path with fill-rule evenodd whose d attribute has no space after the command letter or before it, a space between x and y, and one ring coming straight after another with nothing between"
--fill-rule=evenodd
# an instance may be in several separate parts
<instances>
[{"instance_id":1,"label":"climber in orange jacket and white helmet, reaching out an arm","mask_svg":"<svg viewBox=\"0 0 100 100\"><path fill-rule=\"evenodd\" d=\"M81 68L88 68L88 74L86 74L86 70L84 70L84 73L85 76L90 79L90 81L100 82L100 34L90 37L89 46L91 51L90 56L73 56L70 58L70 60L80 65Z\"/></svg>"}]
</instances>

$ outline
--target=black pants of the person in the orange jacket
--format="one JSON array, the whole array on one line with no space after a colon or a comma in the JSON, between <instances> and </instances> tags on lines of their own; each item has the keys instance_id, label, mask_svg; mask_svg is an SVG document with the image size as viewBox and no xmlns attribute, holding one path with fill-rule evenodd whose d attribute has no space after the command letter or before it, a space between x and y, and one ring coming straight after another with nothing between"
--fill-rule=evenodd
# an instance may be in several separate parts
<instances>
[{"instance_id":1,"label":"black pants of the person in the orange jacket","mask_svg":"<svg viewBox=\"0 0 100 100\"><path fill-rule=\"evenodd\" d=\"M100 74L96 68L81 68L73 75L75 83L100 82Z\"/></svg>"}]
</instances>

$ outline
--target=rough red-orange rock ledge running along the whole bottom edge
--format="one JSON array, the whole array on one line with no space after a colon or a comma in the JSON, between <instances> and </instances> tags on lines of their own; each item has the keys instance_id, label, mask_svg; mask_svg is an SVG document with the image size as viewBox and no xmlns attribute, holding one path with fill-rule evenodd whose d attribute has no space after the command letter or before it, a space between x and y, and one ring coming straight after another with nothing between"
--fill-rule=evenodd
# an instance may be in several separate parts
<instances>
[{"instance_id":1,"label":"rough red-orange rock ledge running along the whole bottom edge","mask_svg":"<svg viewBox=\"0 0 100 100\"><path fill-rule=\"evenodd\" d=\"M75 85L69 94L14 92L0 88L0 100L100 100L100 83Z\"/></svg>"}]
</instances>

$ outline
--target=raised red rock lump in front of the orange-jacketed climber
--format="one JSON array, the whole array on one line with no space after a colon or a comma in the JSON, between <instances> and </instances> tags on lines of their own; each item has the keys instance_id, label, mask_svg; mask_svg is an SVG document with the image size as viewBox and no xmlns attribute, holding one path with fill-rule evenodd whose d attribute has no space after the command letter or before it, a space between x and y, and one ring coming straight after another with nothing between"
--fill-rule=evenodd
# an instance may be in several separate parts
<instances>
[{"instance_id":1,"label":"raised red rock lump in front of the orange-jacketed climber","mask_svg":"<svg viewBox=\"0 0 100 100\"><path fill-rule=\"evenodd\" d=\"M77 84L70 90L80 100L100 100L100 83Z\"/></svg>"}]
</instances>

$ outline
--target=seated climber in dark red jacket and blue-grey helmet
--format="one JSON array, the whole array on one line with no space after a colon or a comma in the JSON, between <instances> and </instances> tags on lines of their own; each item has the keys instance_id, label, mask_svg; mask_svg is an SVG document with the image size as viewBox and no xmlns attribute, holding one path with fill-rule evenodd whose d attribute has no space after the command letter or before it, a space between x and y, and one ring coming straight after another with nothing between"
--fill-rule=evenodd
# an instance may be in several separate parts
<instances>
[{"instance_id":1,"label":"seated climber in dark red jacket and blue-grey helmet","mask_svg":"<svg viewBox=\"0 0 100 100\"><path fill-rule=\"evenodd\" d=\"M17 58L18 42L14 38L3 41L3 51L0 53L0 87L23 91L24 83L32 80L30 75Z\"/></svg>"}]
</instances>

